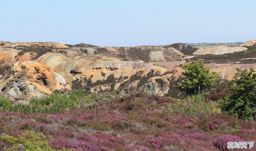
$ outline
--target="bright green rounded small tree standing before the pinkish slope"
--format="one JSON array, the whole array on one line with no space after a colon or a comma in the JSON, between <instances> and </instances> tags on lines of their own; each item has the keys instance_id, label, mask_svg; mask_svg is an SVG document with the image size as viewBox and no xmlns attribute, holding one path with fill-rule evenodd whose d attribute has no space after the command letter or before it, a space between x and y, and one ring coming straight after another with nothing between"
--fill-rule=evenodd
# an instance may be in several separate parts
<instances>
[{"instance_id":1,"label":"bright green rounded small tree standing before the pinkish slope","mask_svg":"<svg viewBox=\"0 0 256 151\"><path fill-rule=\"evenodd\" d=\"M185 64L181 68L186 71L182 72L181 82L178 82L179 89L188 94L194 94L198 89L212 87L219 79L219 74L217 72L210 73L210 67L205 68L201 61Z\"/></svg>"}]
</instances>

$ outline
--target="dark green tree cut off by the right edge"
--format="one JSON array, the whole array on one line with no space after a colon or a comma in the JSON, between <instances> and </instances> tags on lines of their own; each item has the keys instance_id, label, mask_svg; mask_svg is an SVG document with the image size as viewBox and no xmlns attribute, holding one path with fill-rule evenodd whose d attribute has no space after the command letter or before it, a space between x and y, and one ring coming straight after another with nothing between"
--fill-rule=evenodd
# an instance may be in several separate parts
<instances>
[{"instance_id":1,"label":"dark green tree cut off by the right edge","mask_svg":"<svg viewBox=\"0 0 256 151\"><path fill-rule=\"evenodd\" d=\"M256 119L256 73L250 69L238 71L234 80L229 82L233 86L232 93L220 102L221 110L234 117L244 120Z\"/></svg>"}]
</instances>

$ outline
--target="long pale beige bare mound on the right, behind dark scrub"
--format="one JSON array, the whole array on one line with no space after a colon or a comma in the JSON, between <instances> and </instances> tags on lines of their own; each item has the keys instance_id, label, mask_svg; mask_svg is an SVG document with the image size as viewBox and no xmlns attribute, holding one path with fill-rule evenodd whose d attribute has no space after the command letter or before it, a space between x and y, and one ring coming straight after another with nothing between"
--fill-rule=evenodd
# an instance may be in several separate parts
<instances>
[{"instance_id":1,"label":"long pale beige bare mound on the right, behind dark scrub","mask_svg":"<svg viewBox=\"0 0 256 151\"><path fill-rule=\"evenodd\" d=\"M239 52L239 51L243 51L243 50L247 50L247 48L241 47L241 46L202 47L202 48L199 48L198 50L196 50L196 52L194 52L193 55L206 55L206 54L222 55L222 54Z\"/></svg>"}]
</instances>

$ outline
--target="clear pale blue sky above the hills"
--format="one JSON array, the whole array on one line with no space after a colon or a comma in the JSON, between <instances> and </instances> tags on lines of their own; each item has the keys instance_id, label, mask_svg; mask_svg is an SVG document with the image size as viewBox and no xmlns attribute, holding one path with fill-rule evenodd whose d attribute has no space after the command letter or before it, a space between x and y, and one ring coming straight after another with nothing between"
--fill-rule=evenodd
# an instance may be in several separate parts
<instances>
[{"instance_id":1,"label":"clear pale blue sky above the hills","mask_svg":"<svg viewBox=\"0 0 256 151\"><path fill-rule=\"evenodd\" d=\"M0 41L98 46L256 39L255 0L0 0Z\"/></svg>"}]
</instances>

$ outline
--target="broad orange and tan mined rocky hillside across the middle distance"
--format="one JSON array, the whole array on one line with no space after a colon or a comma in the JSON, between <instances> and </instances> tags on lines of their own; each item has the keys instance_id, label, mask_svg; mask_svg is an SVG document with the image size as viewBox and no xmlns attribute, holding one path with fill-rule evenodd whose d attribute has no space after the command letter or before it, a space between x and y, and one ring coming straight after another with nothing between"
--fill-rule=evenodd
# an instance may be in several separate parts
<instances>
[{"instance_id":1,"label":"broad orange and tan mined rocky hillside across the middle distance","mask_svg":"<svg viewBox=\"0 0 256 151\"><path fill-rule=\"evenodd\" d=\"M103 92L133 87L155 94L178 95L180 92L172 89L173 81L186 63L183 53L172 47L69 48L56 42L1 43L4 44L0 48L0 95L12 101L75 89ZM231 79L237 67L256 67L213 62L205 65L223 79Z\"/></svg>"}]
</instances>

